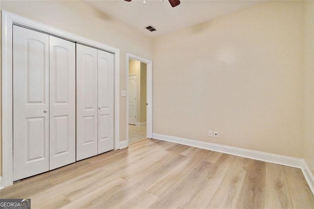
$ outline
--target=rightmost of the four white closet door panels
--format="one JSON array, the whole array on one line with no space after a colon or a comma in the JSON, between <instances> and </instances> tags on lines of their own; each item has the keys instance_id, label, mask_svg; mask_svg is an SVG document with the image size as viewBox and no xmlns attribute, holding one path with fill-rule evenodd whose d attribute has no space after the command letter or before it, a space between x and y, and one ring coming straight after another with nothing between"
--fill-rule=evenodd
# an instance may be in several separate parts
<instances>
[{"instance_id":1,"label":"rightmost of the four white closet door panels","mask_svg":"<svg viewBox=\"0 0 314 209\"><path fill-rule=\"evenodd\" d=\"M98 154L113 150L114 55L98 50Z\"/></svg>"}]
</instances>

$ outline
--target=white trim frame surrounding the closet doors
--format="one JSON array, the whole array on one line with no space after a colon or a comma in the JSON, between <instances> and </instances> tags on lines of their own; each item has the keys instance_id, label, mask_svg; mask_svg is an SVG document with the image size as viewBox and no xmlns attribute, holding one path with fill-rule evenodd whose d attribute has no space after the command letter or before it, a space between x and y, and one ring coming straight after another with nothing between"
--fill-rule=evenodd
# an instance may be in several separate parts
<instances>
[{"instance_id":1,"label":"white trim frame surrounding the closet doors","mask_svg":"<svg viewBox=\"0 0 314 209\"><path fill-rule=\"evenodd\" d=\"M2 178L0 188L13 184L13 92L12 92L12 26L24 26L44 33L88 45L114 54L114 149L119 149L119 117L120 117L120 50L100 42L96 42L52 26L44 25L24 17L2 10Z\"/></svg>"}]
</instances>

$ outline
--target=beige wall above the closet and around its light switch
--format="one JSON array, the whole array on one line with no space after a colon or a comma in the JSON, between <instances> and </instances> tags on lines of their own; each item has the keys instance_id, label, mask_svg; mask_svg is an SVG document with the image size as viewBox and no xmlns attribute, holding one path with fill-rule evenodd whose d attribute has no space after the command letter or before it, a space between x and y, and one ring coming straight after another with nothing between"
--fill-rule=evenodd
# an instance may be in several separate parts
<instances>
[{"instance_id":1,"label":"beige wall above the closet and around its light switch","mask_svg":"<svg viewBox=\"0 0 314 209\"><path fill-rule=\"evenodd\" d=\"M126 53L152 59L152 41L82 1L0 1L1 9L120 49L120 89ZM126 140L126 97L120 97L120 141ZM1 168L1 167L0 167Z\"/></svg>"}]
</instances>

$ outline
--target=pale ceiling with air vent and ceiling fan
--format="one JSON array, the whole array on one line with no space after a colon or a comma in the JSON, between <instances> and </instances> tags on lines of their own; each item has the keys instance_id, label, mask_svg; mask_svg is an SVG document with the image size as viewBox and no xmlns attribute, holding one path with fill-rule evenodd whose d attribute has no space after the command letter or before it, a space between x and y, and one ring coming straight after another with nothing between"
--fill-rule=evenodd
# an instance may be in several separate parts
<instances>
[{"instance_id":1,"label":"pale ceiling with air vent and ceiling fan","mask_svg":"<svg viewBox=\"0 0 314 209\"><path fill-rule=\"evenodd\" d=\"M168 0L84 0L106 15L131 26L148 37L154 38L175 30L193 26L253 6L258 0L180 0L171 7ZM156 31L145 29L156 27Z\"/></svg>"}]
</instances>

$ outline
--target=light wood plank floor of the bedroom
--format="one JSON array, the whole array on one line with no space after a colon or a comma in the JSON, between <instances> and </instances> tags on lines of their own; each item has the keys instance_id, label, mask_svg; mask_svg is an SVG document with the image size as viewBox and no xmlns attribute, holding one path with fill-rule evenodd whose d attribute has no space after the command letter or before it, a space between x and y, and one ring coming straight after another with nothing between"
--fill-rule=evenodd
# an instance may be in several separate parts
<instances>
[{"instance_id":1,"label":"light wood plank floor of the bedroom","mask_svg":"<svg viewBox=\"0 0 314 209\"><path fill-rule=\"evenodd\" d=\"M32 208L314 208L300 169L154 139L27 178Z\"/></svg>"}]
</instances>

